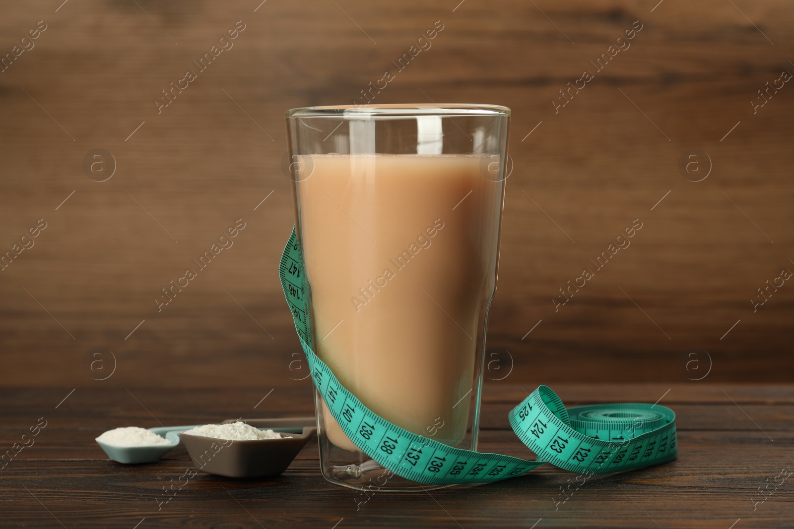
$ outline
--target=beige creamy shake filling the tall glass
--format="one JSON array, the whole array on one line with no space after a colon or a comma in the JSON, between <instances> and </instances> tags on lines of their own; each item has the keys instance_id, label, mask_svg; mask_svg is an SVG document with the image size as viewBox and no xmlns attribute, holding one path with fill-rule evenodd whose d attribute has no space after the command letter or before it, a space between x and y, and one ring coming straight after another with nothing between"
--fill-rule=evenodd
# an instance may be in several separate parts
<instances>
[{"instance_id":1,"label":"beige creamy shake filling the tall glass","mask_svg":"<svg viewBox=\"0 0 794 529\"><path fill-rule=\"evenodd\" d=\"M303 162L315 351L373 412L457 445L495 289L503 183L484 178L484 155ZM324 404L323 416L330 442L357 450Z\"/></svg>"}]
</instances>

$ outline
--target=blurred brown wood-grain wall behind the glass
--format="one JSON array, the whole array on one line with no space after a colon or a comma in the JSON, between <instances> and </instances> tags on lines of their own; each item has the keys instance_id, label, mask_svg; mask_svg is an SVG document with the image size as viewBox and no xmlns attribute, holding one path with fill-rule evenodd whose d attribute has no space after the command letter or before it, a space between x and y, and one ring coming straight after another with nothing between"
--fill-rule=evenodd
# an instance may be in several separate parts
<instances>
[{"instance_id":1,"label":"blurred brown wood-grain wall behind the glass","mask_svg":"<svg viewBox=\"0 0 794 529\"><path fill-rule=\"evenodd\" d=\"M439 20L375 102L513 110L489 377L794 380L794 285L750 302L794 270L794 86L750 104L794 71L791 2L257 4L0 8L2 54L47 25L0 73L0 251L47 223L0 271L0 384L301 378L276 268L292 227L283 113L352 102ZM555 113L558 90L637 20L630 48ZM233 48L158 113L161 90L237 21ZM83 172L98 148L117 165L106 182ZM690 149L711 159L701 182L679 170ZM239 218L233 247L157 312L160 289ZM558 289L634 219L631 246L555 312ZM104 371L88 368L93 347L113 353Z\"/></svg>"}]
</instances>

